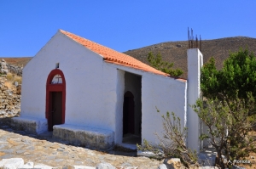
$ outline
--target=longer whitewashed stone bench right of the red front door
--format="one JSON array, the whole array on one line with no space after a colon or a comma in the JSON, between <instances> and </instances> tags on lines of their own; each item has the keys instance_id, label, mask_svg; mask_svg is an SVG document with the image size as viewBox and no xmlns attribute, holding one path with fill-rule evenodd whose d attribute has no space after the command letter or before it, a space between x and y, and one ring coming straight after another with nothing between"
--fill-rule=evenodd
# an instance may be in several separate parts
<instances>
[{"instance_id":1,"label":"longer whitewashed stone bench right of the red front door","mask_svg":"<svg viewBox=\"0 0 256 169\"><path fill-rule=\"evenodd\" d=\"M67 124L55 125L53 127L53 137L90 149L111 149L114 142L113 131Z\"/></svg>"}]
</instances>

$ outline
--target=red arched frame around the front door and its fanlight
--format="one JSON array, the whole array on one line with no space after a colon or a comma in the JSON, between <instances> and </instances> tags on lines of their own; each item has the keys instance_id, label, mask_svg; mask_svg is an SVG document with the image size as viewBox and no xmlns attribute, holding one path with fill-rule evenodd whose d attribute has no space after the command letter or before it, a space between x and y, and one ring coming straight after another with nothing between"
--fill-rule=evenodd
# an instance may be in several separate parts
<instances>
[{"instance_id":1,"label":"red arched frame around the front door and its fanlight","mask_svg":"<svg viewBox=\"0 0 256 169\"><path fill-rule=\"evenodd\" d=\"M55 75L60 75L62 83L51 84L52 79ZM51 70L46 81L46 105L45 105L45 118L48 120L49 127L49 109L51 101L51 92L62 92L62 112L61 112L61 123L65 123L65 108L66 108L66 80L63 72L60 69Z\"/></svg>"}]
</instances>

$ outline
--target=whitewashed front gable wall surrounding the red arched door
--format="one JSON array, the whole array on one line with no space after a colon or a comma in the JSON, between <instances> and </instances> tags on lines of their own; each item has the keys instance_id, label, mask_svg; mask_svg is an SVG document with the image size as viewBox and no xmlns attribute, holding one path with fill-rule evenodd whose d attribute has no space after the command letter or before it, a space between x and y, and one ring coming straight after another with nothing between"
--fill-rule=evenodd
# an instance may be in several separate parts
<instances>
[{"instance_id":1,"label":"whitewashed front gable wall surrounding the red arched door","mask_svg":"<svg viewBox=\"0 0 256 169\"><path fill-rule=\"evenodd\" d=\"M66 124L115 130L117 70L60 32L23 70L21 116L45 118L46 80L60 63L66 79Z\"/></svg>"}]
</instances>

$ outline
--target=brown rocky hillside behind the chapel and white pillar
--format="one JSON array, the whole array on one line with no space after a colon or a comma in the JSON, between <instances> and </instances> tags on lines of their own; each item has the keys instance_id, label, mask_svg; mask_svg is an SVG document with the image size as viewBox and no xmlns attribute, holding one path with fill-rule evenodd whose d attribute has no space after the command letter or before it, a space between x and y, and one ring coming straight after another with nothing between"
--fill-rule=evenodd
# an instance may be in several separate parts
<instances>
[{"instance_id":1,"label":"brown rocky hillside behind the chapel and white pillar","mask_svg":"<svg viewBox=\"0 0 256 169\"><path fill-rule=\"evenodd\" d=\"M230 52L236 52L239 48L248 48L256 54L256 38L251 37L227 37L221 39L202 41L201 53L204 56L204 63L214 57L216 65L220 69L224 59L229 57ZM161 42L144 48L137 48L125 52L136 59L148 64L148 53L160 53L165 61L173 62L174 68L184 71L181 77L187 78L187 49L188 42Z\"/></svg>"}]
</instances>

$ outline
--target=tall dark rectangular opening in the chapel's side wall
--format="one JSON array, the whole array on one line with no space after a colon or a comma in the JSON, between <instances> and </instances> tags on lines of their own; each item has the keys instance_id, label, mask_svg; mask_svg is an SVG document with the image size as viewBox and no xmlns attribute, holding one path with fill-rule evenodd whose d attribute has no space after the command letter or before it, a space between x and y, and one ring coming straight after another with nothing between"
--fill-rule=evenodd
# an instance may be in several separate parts
<instances>
[{"instance_id":1,"label":"tall dark rectangular opening in the chapel's side wall","mask_svg":"<svg viewBox=\"0 0 256 169\"><path fill-rule=\"evenodd\" d=\"M142 76L125 72L123 144L141 144Z\"/></svg>"}]
</instances>

